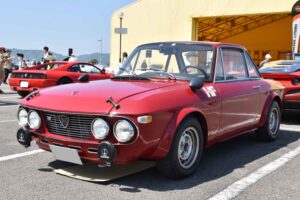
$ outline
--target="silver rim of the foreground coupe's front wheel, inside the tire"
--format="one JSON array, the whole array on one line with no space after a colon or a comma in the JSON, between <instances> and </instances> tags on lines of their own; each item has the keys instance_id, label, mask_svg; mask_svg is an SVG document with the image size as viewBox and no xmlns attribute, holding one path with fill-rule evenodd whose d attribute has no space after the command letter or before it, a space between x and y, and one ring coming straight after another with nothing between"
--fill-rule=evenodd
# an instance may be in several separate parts
<instances>
[{"instance_id":1,"label":"silver rim of the foreground coupe's front wheel, inside the tire","mask_svg":"<svg viewBox=\"0 0 300 200\"><path fill-rule=\"evenodd\" d=\"M178 160L180 165L188 169L196 161L199 152L199 135L193 127L184 130L179 140Z\"/></svg>"}]
</instances>

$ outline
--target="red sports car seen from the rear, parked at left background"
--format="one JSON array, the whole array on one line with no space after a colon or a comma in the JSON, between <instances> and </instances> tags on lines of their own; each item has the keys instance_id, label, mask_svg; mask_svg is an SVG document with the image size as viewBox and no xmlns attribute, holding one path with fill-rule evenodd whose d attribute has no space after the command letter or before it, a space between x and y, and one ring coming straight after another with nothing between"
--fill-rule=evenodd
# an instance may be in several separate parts
<instances>
[{"instance_id":1,"label":"red sports car seen from the rear, parked at left background","mask_svg":"<svg viewBox=\"0 0 300 200\"><path fill-rule=\"evenodd\" d=\"M51 62L12 72L8 83L11 90L25 97L40 88L77 82L84 73L90 74L90 80L111 78L112 74L84 62Z\"/></svg>"}]
</instances>

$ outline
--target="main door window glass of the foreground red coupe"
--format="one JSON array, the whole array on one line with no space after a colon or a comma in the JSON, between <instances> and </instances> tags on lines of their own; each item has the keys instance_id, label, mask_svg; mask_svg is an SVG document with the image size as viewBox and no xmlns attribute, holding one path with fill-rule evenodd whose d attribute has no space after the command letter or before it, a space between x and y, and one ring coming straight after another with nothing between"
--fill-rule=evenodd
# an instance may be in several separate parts
<instances>
[{"instance_id":1,"label":"main door window glass of the foreground red coupe","mask_svg":"<svg viewBox=\"0 0 300 200\"><path fill-rule=\"evenodd\" d=\"M226 80L247 79L243 51L238 49L222 49L223 68Z\"/></svg>"}]
</instances>

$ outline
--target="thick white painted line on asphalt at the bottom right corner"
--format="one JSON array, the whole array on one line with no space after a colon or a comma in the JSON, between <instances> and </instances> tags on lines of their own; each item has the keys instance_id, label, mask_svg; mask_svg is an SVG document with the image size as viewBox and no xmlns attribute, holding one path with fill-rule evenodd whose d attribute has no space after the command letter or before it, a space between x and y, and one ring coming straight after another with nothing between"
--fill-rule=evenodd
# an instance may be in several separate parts
<instances>
[{"instance_id":1,"label":"thick white painted line on asphalt at the bottom right corner","mask_svg":"<svg viewBox=\"0 0 300 200\"><path fill-rule=\"evenodd\" d=\"M253 185L258 180L263 178L264 176L272 173L273 171L277 170L278 168L285 165L287 162L295 158L300 154L300 146L296 149L288 152L287 154L281 156L280 158L270 162L269 164L259 168L255 172L249 174L248 176L234 182L230 186L228 186L223 191L219 192L218 194L214 195L213 197L209 198L209 200L229 200L236 197L242 191L244 191L247 187Z\"/></svg>"}]
</instances>

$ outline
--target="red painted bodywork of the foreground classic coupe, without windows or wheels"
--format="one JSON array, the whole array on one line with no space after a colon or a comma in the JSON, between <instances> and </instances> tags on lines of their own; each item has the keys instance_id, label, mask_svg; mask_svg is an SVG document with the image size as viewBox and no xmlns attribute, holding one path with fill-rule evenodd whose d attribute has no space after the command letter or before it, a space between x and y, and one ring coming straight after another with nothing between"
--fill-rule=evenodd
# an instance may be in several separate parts
<instances>
[{"instance_id":1,"label":"red painted bodywork of the foreground classic coupe, without windows or wheels","mask_svg":"<svg viewBox=\"0 0 300 200\"><path fill-rule=\"evenodd\" d=\"M244 51L242 47L229 44L199 44L213 45L216 51L219 47ZM283 97L282 85L260 77L205 82L199 90L192 90L189 84L188 80L167 78L93 81L42 90L35 96L23 99L20 106L36 110L42 116L41 128L30 130L40 148L50 151L49 144L80 147L80 157L95 163L102 162L95 150L103 140L95 139L93 134L89 139L82 140L50 133L45 113L101 117L111 127L119 119L130 120L136 127L136 135L130 143L118 142L112 128L105 139L117 150L113 162L125 164L138 159L164 158L178 126L187 116L193 115L199 120L205 144L210 146L261 127L272 101L281 104ZM215 89L216 95L209 96L205 91L210 86ZM110 97L119 104L119 108L107 103ZM137 118L145 115L152 116L151 123L138 122Z\"/></svg>"}]
</instances>

